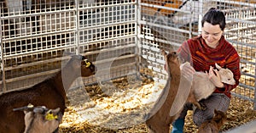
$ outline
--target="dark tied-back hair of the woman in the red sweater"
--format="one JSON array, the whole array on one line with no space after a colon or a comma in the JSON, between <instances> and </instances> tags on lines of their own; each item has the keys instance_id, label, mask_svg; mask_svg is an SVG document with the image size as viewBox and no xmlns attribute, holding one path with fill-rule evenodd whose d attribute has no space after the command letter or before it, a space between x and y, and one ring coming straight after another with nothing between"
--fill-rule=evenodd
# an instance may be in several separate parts
<instances>
[{"instance_id":1,"label":"dark tied-back hair of the woman in the red sweater","mask_svg":"<svg viewBox=\"0 0 256 133\"><path fill-rule=\"evenodd\" d=\"M208 22L212 25L219 25L221 30L224 30L226 26L225 15L222 11L217 8L210 8L207 11L207 14L201 19L201 25L204 26L205 22Z\"/></svg>"}]
</instances>

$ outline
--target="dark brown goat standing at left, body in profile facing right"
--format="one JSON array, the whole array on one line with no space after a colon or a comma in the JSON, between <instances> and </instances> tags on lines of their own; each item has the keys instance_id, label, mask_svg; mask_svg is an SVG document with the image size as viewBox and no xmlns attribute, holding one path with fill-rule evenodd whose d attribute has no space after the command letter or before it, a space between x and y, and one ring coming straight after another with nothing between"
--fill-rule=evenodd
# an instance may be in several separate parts
<instances>
[{"instance_id":1,"label":"dark brown goat standing at left, body in profile facing right","mask_svg":"<svg viewBox=\"0 0 256 133\"><path fill-rule=\"evenodd\" d=\"M67 102L65 89L79 76L94 75L95 71L95 65L84 56L74 55L63 69L49 79L24 90L3 93L0 95L0 132L21 133L25 130L24 114L13 111L13 108L26 106L28 103L34 106L44 105L47 108L61 108L61 114L64 114Z\"/></svg>"}]
</instances>

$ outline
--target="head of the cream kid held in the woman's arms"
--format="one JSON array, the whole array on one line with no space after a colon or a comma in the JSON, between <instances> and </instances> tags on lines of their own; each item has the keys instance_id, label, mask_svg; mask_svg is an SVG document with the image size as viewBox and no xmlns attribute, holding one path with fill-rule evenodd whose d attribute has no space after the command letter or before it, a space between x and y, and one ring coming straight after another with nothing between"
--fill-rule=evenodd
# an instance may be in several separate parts
<instances>
[{"instance_id":1,"label":"head of the cream kid held in the woman's arms","mask_svg":"<svg viewBox=\"0 0 256 133\"><path fill-rule=\"evenodd\" d=\"M218 64L215 64L216 68L218 69L218 73L220 75L220 79L222 82L229 84L229 85L235 85L236 80L234 80L234 75L230 69L224 69L220 67Z\"/></svg>"}]
</instances>

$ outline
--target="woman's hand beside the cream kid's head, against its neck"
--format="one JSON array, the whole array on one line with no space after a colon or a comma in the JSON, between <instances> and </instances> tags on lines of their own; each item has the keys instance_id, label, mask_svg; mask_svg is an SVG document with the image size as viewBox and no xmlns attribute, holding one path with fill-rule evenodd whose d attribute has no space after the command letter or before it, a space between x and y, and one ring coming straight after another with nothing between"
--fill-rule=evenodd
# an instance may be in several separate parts
<instances>
[{"instance_id":1,"label":"woman's hand beside the cream kid's head, against its neck","mask_svg":"<svg viewBox=\"0 0 256 133\"><path fill-rule=\"evenodd\" d=\"M208 75L209 80L212 81L212 84L214 86L217 86L218 88L223 88L224 87L224 83L221 82L217 69L213 69L212 66L210 66L209 74L207 73L207 75Z\"/></svg>"}]
</instances>

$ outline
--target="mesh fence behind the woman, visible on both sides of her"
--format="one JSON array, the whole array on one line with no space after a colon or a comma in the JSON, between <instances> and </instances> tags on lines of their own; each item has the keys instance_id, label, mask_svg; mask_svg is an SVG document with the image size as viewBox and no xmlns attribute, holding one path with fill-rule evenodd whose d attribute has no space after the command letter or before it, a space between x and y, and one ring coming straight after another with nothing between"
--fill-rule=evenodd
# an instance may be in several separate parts
<instances>
[{"instance_id":1,"label":"mesh fence behind the woman, visible on both sides of her","mask_svg":"<svg viewBox=\"0 0 256 133\"><path fill-rule=\"evenodd\" d=\"M201 33L201 18L209 8L226 14L226 39L241 56L241 82L232 93L255 103L255 3L243 0L141 0L139 41L142 57L155 78L165 80L160 48L176 50L183 42ZM256 108L254 104L254 108Z\"/></svg>"}]
</instances>

